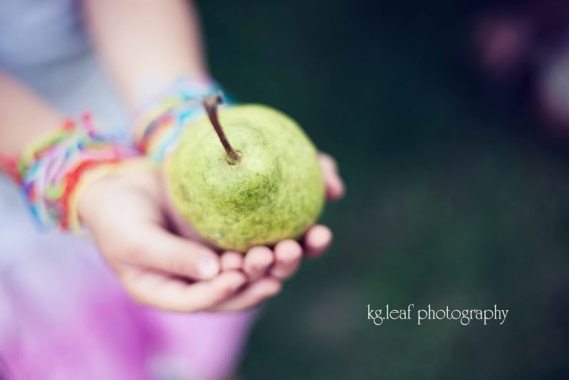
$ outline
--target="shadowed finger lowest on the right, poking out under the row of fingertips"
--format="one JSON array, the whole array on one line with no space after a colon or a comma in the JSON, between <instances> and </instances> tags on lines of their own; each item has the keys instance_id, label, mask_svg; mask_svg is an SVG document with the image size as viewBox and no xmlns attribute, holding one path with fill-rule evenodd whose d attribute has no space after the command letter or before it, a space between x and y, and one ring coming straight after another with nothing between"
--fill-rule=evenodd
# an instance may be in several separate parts
<instances>
[{"instance_id":1,"label":"shadowed finger lowest on the right, poking out under the row of fingertips","mask_svg":"<svg viewBox=\"0 0 569 380\"><path fill-rule=\"evenodd\" d=\"M278 279L263 277L246 287L241 293L236 294L227 301L217 304L212 311L215 312L236 312L238 310L249 309L269 297L273 297L281 291L282 284Z\"/></svg>"}]
</instances>

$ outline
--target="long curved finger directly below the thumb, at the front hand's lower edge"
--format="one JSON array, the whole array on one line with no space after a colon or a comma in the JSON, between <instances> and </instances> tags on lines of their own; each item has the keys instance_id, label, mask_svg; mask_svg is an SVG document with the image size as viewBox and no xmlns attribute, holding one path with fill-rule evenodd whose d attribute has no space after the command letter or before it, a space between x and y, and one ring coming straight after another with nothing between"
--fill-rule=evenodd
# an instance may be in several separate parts
<instances>
[{"instance_id":1,"label":"long curved finger directly below the thumb, at the front hand's lower edge","mask_svg":"<svg viewBox=\"0 0 569 380\"><path fill-rule=\"evenodd\" d=\"M238 292L247 281L244 274L236 271L193 284L140 269L123 272L120 278L137 302L174 312L197 312L214 307Z\"/></svg>"}]
</instances>

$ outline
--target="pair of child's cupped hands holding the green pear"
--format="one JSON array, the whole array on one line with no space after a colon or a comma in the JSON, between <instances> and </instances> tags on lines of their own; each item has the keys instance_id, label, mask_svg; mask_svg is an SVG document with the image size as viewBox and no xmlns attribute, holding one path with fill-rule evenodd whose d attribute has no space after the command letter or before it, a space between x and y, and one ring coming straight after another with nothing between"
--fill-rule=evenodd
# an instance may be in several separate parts
<instances>
[{"instance_id":1,"label":"pair of child's cupped hands holding the green pear","mask_svg":"<svg viewBox=\"0 0 569 380\"><path fill-rule=\"evenodd\" d=\"M322 154L320 165L327 198L338 199L344 185L335 161ZM184 237L170 232L162 176L144 160L134 166L90 185L78 211L126 291L142 304L178 312L248 309L277 294L303 256L317 257L332 241L328 227L314 225L302 245L283 240L273 250L218 255L191 229Z\"/></svg>"}]
</instances>

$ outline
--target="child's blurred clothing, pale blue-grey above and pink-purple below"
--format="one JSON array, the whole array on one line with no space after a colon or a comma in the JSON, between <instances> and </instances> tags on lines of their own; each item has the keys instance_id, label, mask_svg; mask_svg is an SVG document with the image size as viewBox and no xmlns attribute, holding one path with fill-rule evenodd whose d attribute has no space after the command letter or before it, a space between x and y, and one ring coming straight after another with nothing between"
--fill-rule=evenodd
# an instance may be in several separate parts
<instances>
[{"instance_id":1,"label":"child's blurred clothing, pale blue-grey above and pink-purple below","mask_svg":"<svg viewBox=\"0 0 569 380\"><path fill-rule=\"evenodd\" d=\"M79 6L4 0L0 68L61 111L89 109L126 134ZM134 304L93 245L38 230L19 190L0 177L0 379L219 379L233 371L253 316Z\"/></svg>"}]
</instances>

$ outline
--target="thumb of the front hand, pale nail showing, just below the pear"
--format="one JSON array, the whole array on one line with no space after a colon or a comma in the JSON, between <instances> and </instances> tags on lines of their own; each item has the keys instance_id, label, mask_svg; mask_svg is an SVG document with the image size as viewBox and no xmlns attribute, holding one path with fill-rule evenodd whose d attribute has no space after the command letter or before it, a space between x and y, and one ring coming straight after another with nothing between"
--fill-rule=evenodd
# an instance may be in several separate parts
<instances>
[{"instance_id":1,"label":"thumb of the front hand, pale nail showing, just below the pear","mask_svg":"<svg viewBox=\"0 0 569 380\"><path fill-rule=\"evenodd\" d=\"M191 279L209 279L221 267L216 252L204 245L172 235L160 225L137 226L122 257L131 265Z\"/></svg>"}]
</instances>

